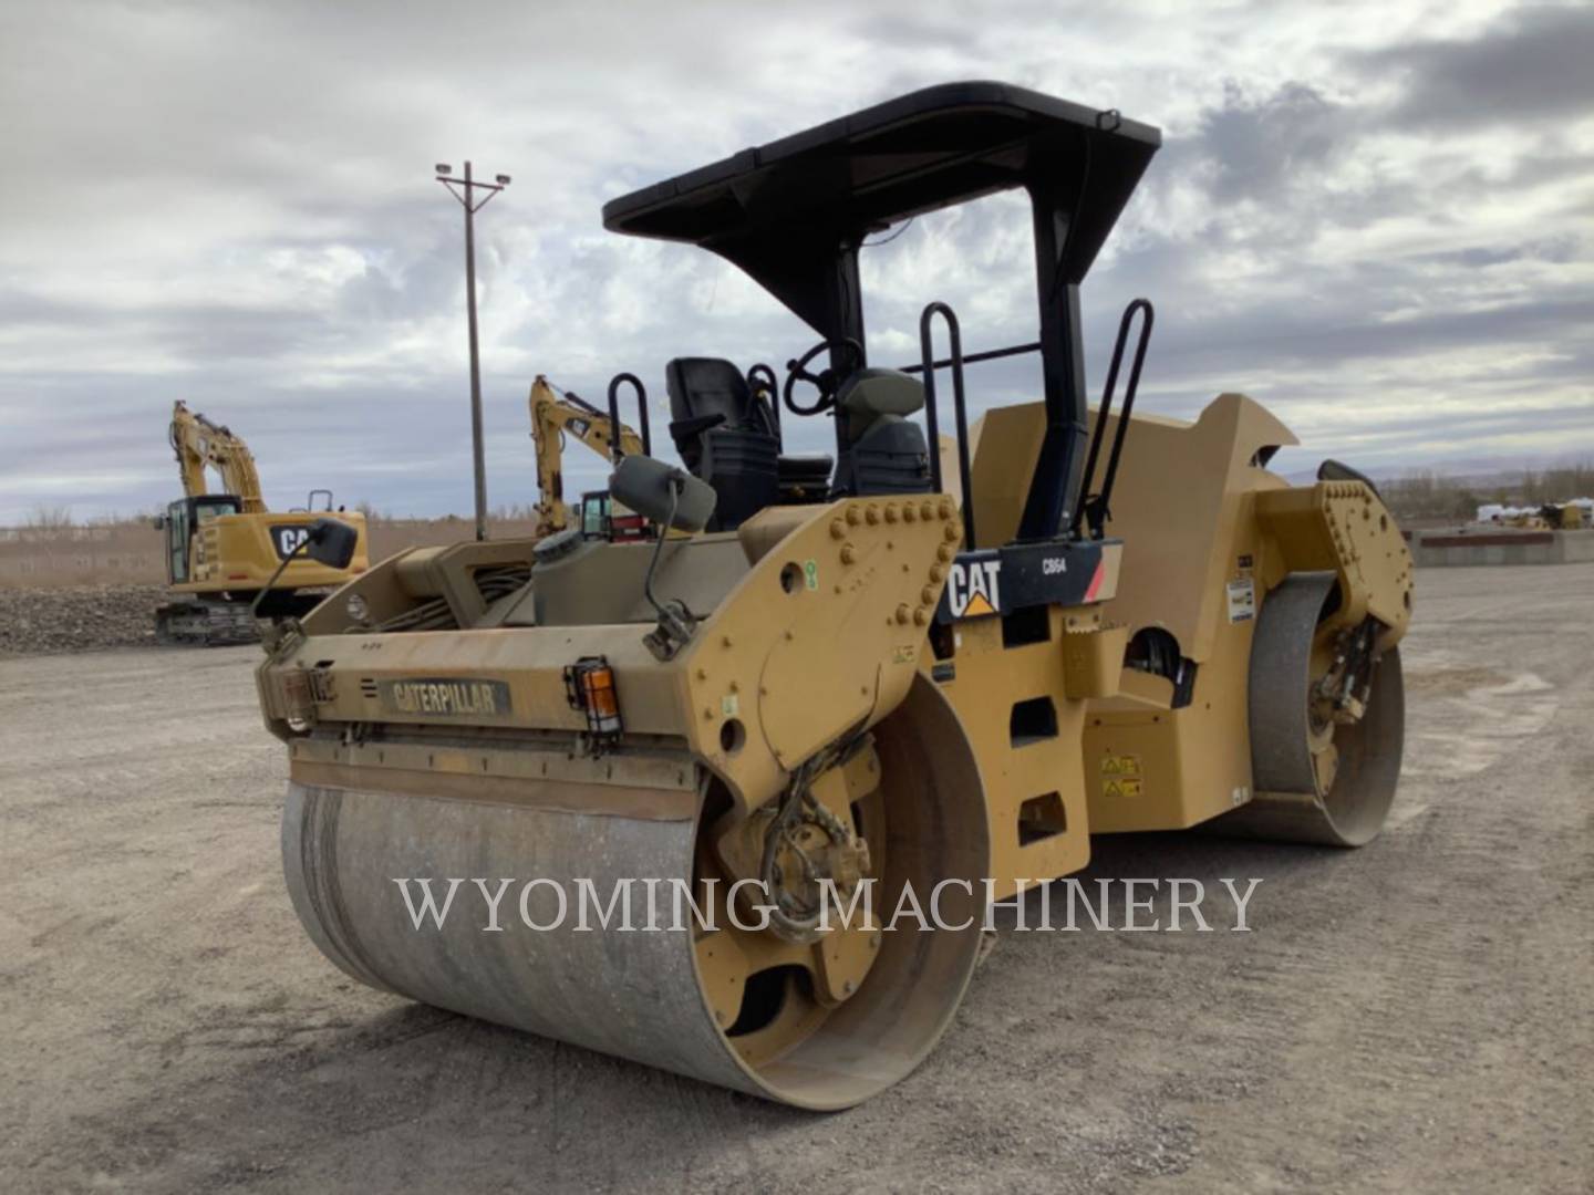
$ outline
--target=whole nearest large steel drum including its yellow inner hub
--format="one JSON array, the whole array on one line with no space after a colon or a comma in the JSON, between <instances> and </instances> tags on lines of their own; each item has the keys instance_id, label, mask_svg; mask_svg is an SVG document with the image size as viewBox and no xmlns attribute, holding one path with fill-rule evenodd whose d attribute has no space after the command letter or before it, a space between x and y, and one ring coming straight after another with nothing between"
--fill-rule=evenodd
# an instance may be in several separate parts
<instances>
[{"instance_id":1,"label":"whole nearest large steel drum including its yellow inner hub","mask_svg":"<svg viewBox=\"0 0 1594 1195\"><path fill-rule=\"evenodd\" d=\"M650 821L365 789L289 786L284 870L293 907L327 958L354 978L442 1009L529 1029L799 1107L842 1109L907 1076L963 999L980 946L977 900L988 865L979 770L945 698L925 680L872 736L797 786L795 803L738 819L708 786L695 817ZM464 795L464 793L461 793ZM773 833L773 838L771 838ZM770 849L765 844L773 841ZM773 876L768 929L728 924L727 887ZM395 878L430 878L438 899L464 878L442 929L416 929ZM501 932L483 932L489 891L512 876ZM816 876L843 892L874 876L875 921L811 924ZM668 908L676 878L711 892L714 931L577 929L579 881L609 902L630 880ZM717 884L708 886L706 880ZM524 897L526 881L537 880ZM947 923L964 931L886 931L904 884L920 902L942 880ZM542 883L553 881L553 883ZM418 887L413 887L419 892ZM528 929L521 900L537 924ZM751 887L757 903L762 892ZM759 915L738 910L743 924ZM665 915L662 924L668 924Z\"/></svg>"}]
</instances>

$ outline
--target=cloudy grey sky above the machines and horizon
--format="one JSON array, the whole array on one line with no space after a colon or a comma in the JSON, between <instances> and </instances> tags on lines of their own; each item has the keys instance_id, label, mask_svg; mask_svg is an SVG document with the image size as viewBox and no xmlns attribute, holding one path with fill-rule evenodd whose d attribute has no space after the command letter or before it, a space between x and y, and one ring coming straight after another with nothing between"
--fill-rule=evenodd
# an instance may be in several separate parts
<instances>
[{"instance_id":1,"label":"cloudy grey sky above the machines and horizon","mask_svg":"<svg viewBox=\"0 0 1594 1195\"><path fill-rule=\"evenodd\" d=\"M311 486L467 513L461 214L432 164L515 182L478 225L493 503L534 500L536 373L607 378L813 335L601 204L931 83L999 78L1160 126L1084 298L1122 304L1143 409L1237 389L1309 467L1594 457L1594 8L1441 3L0 3L0 523L175 496L174 398L231 424L274 505ZM864 260L870 352L1031 339L1022 204ZM1035 362L972 374L1035 397ZM811 421L819 422L819 421ZM799 446L823 448L827 427ZM571 488L603 467L572 448Z\"/></svg>"}]
</instances>

